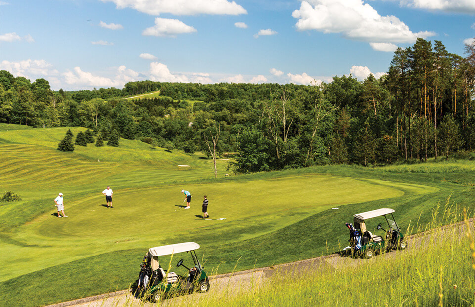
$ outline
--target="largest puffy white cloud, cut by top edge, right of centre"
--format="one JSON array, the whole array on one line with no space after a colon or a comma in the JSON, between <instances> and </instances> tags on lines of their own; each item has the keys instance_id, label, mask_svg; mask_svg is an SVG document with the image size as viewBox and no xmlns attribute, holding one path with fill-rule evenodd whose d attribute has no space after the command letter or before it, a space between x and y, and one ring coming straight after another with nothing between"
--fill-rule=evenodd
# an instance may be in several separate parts
<instances>
[{"instance_id":1,"label":"largest puffy white cloud, cut by top edge, right of centre","mask_svg":"<svg viewBox=\"0 0 475 307\"><path fill-rule=\"evenodd\" d=\"M368 43L413 43L434 32L412 32L395 16L381 16L362 0L308 0L292 13L300 31L340 33L344 38Z\"/></svg>"}]
</instances>

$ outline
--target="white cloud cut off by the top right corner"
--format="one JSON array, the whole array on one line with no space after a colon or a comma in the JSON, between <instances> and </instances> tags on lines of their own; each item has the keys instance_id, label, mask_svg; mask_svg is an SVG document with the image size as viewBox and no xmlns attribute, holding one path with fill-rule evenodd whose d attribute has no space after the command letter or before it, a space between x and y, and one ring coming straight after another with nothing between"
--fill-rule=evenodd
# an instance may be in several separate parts
<instances>
[{"instance_id":1,"label":"white cloud cut off by the top right corner","mask_svg":"<svg viewBox=\"0 0 475 307\"><path fill-rule=\"evenodd\" d=\"M475 10L474 0L404 0L400 3L408 7L466 14L473 14Z\"/></svg>"}]
</instances>

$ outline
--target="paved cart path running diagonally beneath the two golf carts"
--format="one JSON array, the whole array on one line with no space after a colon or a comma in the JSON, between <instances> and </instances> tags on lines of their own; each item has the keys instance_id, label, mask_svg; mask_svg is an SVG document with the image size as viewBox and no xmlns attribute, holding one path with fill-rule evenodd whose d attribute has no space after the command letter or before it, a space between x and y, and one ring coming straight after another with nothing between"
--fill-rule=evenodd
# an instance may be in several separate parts
<instances>
[{"instance_id":1,"label":"paved cart path running diagonally beneath the two golf carts","mask_svg":"<svg viewBox=\"0 0 475 307\"><path fill-rule=\"evenodd\" d=\"M469 220L470 225L474 226L474 219ZM464 222L443 226L439 229L443 232L455 231L463 236L465 232ZM430 234L438 230L431 230L426 233L412 235L408 238L408 249L420 247L427 244L430 240ZM395 257L399 253L404 251L392 251L390 253L384 253L380 256ZM335 271L339 267L345 266L358 266L366 261L363 259L354 259L351 257L340 256L339 254L332 254L328 256L321 256L317 258L285 263L275 265L272 267L263 267L253 270L222 274L216 276L210 276L210 289L207 293L193 293L190 295L180 296L173 299L164 300L161 306L172 307L177 303L185 303L187 305L193 305L193 301L199 300L201 296L205 295L223 295L228 291L236 292L240 287L248 288L249 285L258 287L264 282L279 275L291 274L298 277L299 274L308 274L308 271L315 271L316 273L322 270ZM112 307L112 306L144 306L151 307L156 304L143 303L136 299L129 290L122 290L98 296L92 296L84 299L63 302L59 304L49 305L49 307Z\"/></svg>"}]
</instances>

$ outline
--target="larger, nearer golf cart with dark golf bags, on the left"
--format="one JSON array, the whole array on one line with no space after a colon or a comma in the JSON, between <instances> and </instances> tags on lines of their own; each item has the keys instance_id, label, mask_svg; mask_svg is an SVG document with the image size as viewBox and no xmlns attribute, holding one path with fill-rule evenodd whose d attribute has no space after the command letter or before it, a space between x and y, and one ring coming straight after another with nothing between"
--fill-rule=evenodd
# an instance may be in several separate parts
<instances>
[{"instance_id":1,"label":"larger, nearer golf cart with dark golf bags, on the left","mask_svg":"<svg viewBox=\"0 0 475 307\"><path fill-rule=\"evenodd\" d=\"M209 279L196 256L199 244L194 242L178 243L152 247L143 258L136 294L148 299L152 303L161 301L171 293L191 293L193 291L206 292L209 290ZM180 259L177 268L184 267L186 273L179 275L175 272L167 272L160 263L160 256L176 255L178 253L190 253L194 267L190 268ZM162 259L163 260L163 259ZM171 261L171 259L169 260ZM169 261L165 261L168 263ZM162 263L164 263L162 261ZM183 269L182 269L183 270Z\"/></svg>"}]
</instances>

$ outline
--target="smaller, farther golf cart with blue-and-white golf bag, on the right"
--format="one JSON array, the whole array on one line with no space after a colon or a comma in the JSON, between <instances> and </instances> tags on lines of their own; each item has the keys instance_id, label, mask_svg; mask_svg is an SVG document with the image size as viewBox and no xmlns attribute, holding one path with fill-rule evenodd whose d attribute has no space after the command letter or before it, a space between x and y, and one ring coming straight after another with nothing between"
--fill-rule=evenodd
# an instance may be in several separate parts
<instances>
[{"instance_id":1,"label":"smaller, farther golf cart with blue-and-white golf bag, on the right","mask_svg":"<svg viewBox=\"0 0 475 307\"><path fill-rule=\"evenodd\" d=\"M371 258L382 251L405 249L407 241L396 223L394 212L396 211L393 209L383 208L355 214L353 224L346 223L346 227L350 229L350 246L345 249L351 249L352 253L366 258ZM367 230L366 222L373 218L379 218L384 224L387 223L387 229L382 228L382 223L376 226L376 230L381 229L385 232L384 236L374 235Z\"/></svg>"}]
</instances>

